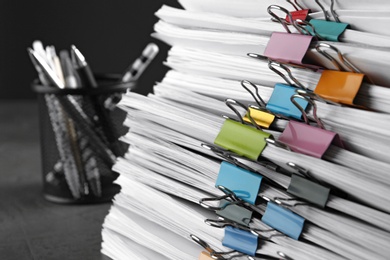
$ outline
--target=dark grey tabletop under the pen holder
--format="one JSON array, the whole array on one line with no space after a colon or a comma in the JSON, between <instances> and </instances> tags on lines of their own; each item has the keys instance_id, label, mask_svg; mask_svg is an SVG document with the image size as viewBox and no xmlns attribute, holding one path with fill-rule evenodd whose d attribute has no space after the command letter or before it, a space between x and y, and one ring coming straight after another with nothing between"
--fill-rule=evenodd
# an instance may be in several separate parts
<instances>
[{"instance_id":1,"label":"dark grey tabletop under the pen holder","mask_svg":"<svg viewBox=\"0 0 390 260\"><path fill-rule=\"evenodd\" d=\"M110 204L50 203L41 176L37 103L0 100L0 259L108 259L100 232Z\"/></svg>"}]
</instances>

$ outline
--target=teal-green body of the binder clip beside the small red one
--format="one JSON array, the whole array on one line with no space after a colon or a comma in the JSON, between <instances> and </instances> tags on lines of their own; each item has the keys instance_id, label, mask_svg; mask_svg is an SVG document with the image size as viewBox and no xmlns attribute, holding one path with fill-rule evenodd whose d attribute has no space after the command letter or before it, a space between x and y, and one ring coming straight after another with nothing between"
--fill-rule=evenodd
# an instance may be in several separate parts
<instances>
[{"instance_id":1,"label":"teal-green body of the binder clip beside the small red one","mask_svg":"<svg viewBox=\"0 0 390 260\"><path fill-rule=\"evenodd\" d=\"M314 32L311 26L306 26L306 29L310 32L311 35L318 35L322 39L332 42L338 42L340 35L343 34L349 26L347 23L337 23L333 21L317 19L311 19L310 24L313 26Z\"/></svg>"}]
</instances>

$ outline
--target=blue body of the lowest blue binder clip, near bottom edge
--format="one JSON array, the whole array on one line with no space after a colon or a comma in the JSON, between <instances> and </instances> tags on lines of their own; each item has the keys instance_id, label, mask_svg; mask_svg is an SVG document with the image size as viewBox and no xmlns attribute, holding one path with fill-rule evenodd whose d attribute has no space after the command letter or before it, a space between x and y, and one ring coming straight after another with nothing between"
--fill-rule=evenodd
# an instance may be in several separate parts
<instances>
[{"instance_id":1,"label":"blue body of the lowest blue binder clip, near bottom edge","mask_svg":"<svg viewBox=\"0 0 390 260\"><path fill-rule=\"evenodd\" d=\"M258 247L258 236L238 228L226 227L222 245L255 256Z\"/></svg>"}]
</instances>

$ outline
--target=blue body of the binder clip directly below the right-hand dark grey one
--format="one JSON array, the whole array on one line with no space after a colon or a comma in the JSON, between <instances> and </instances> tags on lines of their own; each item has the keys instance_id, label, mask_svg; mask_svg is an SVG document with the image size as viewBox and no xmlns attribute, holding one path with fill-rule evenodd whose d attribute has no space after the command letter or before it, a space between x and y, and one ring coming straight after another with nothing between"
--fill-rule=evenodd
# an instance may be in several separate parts
<instances>
[{"instance_id":1,"label":"blue body of the binder clip directly below the right-hand dark grey one","mask_svg":"<svg viewBox=\"0 0 390 260\"><path fill-rule=\"evenodd\" d=\"M305 223L305 219L301 216L273 202L267 203L267 208L261 221L296 240L299 239Z\"/></svg>"}]
</instances>

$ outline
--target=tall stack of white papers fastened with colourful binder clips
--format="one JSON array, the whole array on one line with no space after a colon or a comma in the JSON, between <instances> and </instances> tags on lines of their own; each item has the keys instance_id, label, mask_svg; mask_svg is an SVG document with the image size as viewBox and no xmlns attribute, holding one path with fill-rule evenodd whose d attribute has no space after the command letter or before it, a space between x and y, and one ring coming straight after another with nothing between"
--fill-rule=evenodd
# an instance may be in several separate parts
<instances>
[{"instance_id":1,"label":"tall stack of white papers fastened with colourful binder clips","mask_svg":"<svg viewBox=\"0 0 390 260\"><path fill-rule=\"evenodd\" d=\"M129 149L113 166L122 189L102 253L388 259L389 3L179 2L156 13L171 70L153 93L118 104ZM319 40L321 30L287 21L295 7L313 24L348 26Z\"/></svg>"}]
</instances>

